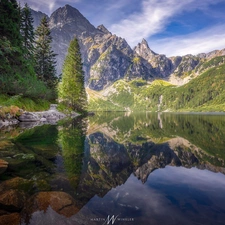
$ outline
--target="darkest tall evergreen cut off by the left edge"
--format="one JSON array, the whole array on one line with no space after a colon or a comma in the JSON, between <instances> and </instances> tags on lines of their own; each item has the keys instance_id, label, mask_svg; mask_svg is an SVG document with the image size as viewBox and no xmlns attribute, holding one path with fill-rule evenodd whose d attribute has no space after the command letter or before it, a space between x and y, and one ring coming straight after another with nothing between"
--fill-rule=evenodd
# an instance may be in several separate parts
<instances>
[{"instance_id":1,"label":"darkest tall evergreen cut off by the left edge","mask_svg":"<svg viewBox=\"0 0 225 225\"><path fill-rule=\"evenodd\" d=\"M20 35L20 10L16 1L0 2L0 86L4 90L5 79L16 79L25 62ZM10 78L9 78L10 76Z\"/></svg>"}]
</instances>

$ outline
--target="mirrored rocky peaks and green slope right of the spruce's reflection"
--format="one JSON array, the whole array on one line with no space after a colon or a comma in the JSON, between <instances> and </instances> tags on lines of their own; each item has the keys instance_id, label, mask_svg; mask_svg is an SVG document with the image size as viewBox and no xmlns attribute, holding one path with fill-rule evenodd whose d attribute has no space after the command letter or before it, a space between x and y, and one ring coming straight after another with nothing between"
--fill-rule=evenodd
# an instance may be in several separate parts
<instances>
[{"instance_id":1,"label":"mirrored rocky peaks and green slope right of the spruce's reflection","mask_svg":"<svg viewBox=\"0 0 225 225\"><path fill-rule=\"evenodd\" d=\"M86 200L104 196L132 173L145 183L152 171L167 165L225 174L224 117L101 114L89 120L78 186Z\"/></svg>"}]
</instances>

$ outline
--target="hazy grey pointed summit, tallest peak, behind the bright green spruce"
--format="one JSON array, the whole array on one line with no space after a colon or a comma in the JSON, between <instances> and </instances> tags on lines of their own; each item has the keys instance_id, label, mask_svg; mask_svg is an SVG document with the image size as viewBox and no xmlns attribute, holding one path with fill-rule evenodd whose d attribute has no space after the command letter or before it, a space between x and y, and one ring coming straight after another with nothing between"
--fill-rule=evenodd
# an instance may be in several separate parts
<instances>
[{"instance_id":1,"label":"hazy grey pointed summit, tallest peak, behind the bright green spruce","mask_svg":"<svg viewBox=\"0 0 225 225\"><path fill-rule=\"evenodd\" d=\"M85 37L101 33L77 9L69 5L53 12L49 25L53 38L52 49L57 54L56 69L58 74L62 71L69 43L75 36L82 40Z\"/></svg>"}]
</instances>

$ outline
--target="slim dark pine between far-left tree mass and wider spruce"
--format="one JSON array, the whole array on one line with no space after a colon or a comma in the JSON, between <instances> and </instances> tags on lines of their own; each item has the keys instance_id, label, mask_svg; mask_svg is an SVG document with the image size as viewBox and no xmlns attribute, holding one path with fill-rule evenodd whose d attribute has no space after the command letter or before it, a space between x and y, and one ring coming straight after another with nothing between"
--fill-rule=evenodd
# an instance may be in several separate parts
<instances>
[{"instance_id":1,"label":"slim dark pine between far-left tree mass and wider spruce","mask_svg":"<svg viewBox=\"0 0 225 225\"><path fill-rule=\"evenodd\" d=\"M34 52L34 19L27 3L21 10L21 35L23 37L23 48L25 51L26 59L33 57Z\"/></svg>"}]
</instances>

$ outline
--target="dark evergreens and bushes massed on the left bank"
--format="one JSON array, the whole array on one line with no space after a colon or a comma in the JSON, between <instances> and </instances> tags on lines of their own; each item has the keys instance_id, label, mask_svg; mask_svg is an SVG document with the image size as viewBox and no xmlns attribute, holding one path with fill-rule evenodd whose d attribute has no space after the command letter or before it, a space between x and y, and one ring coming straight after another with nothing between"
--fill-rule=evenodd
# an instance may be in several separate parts
<instances>
[{"instance_id":1,"label":"dark evergreens and bushes massed on the left bank","mask_svg":"<svg viewBox=\"0 0 225 225\"><path fill-rule=\"evenodd\" d=\"M40 30L41 27L45 27L45 30ZM17 100L56 99L58 78L54 70L48 24L44 24L42 20L39 32L34 31L33 18L27 4L20 8L15 0L2 0L0 33L1 105L4 105L10 96ZM43 43L43 39L48 40L47 43Z\"/></svg>"}]
</instances>

